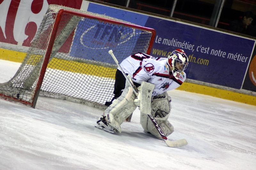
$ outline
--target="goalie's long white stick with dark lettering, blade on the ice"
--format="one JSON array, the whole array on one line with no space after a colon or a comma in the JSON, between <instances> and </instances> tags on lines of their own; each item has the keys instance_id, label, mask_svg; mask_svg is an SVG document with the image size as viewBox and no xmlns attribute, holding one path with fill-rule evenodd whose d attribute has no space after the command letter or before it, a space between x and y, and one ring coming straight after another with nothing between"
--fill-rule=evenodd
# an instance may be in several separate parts
<instances>
[{"instance_id":1,"label":"goalie's long white stick with dark lettering, blade on the ice","mask_svg":"<svg viewBox=\"0 0 256 170\"><path fill-rule=\"evenodd\" d=\"M136 96L138 96L138 90L132 85L131 81L128 79L128 77L124 73L124 70L121 68L120 64L118 63L115 55L113 54L113 51L109 50L108 54L110 54L112 56L112 58L114 59L114 61L117 64L118 68L121 70L121 72L123 73L124 77L129 82L129 85L132 87L133 92L135 93ZM164 134L163 130L160 128L159 124L156 122L156 119L154 118L154 116L152 116L152 114L150 113L148 115L148 117L152 121L152 123L155 125L157 131L159 132L160 136L162 137L162 139L164 140L164 142L166 143L167 146L169 146L169 147L180 147L180 146L184 146L184 145L188 144L186 139L180 139L180 140L175 140L175 141L168 140L168 138Z\"/></svg>"}]
</instances>

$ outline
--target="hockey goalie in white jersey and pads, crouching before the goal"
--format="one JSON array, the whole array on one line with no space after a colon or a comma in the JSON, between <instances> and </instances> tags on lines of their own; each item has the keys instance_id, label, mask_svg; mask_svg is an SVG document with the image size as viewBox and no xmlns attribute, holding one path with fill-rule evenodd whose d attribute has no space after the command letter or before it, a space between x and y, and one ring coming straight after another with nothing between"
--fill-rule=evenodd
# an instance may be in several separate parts
<instances>
[{"instance_id":1,"label":"hockey goalie in white jersey and pads, crouching before the goal","mask_svg":"<svg viewBox=\"0 0 256 170\"><path fill-rule=\"evenodd\" d=\"M188 57L185 52L176 49L168 58L136 53L127 57L120 66L132 85L138 89L138 96L118 69L114 87L115 96L110 102L106 102L108 108L97 121L96 127L112 133L121 133L121 124L136 107L139 107L140 124L145 133L162 138L149 119L148 115L152 114L164 134L170 135L173 126L168 121L171 97L168 96L167 91L179 87L186 79L184 70L188 66Z\"/></svg>"}]
</instances>

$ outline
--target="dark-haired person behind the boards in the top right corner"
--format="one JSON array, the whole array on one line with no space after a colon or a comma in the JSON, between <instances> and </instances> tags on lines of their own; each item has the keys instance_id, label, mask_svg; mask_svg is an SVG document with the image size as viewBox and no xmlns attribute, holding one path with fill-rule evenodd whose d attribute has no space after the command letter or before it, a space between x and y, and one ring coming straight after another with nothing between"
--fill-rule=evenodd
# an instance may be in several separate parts
<instances>
[{"instance_id":1,"label":"dark-haired person behind the boards in the top right corner","mask_svg":"<svg viewBox=\"0 0 256 170\"><path fill-rule=\"evenodd\" d=\"M252 35L253 29L249 27L252 24L253 18L254 18L254 14L251 11L244 12L244 15L241 19L230 22L229 30L237 33Z\"/></svg>"}]
</instances>

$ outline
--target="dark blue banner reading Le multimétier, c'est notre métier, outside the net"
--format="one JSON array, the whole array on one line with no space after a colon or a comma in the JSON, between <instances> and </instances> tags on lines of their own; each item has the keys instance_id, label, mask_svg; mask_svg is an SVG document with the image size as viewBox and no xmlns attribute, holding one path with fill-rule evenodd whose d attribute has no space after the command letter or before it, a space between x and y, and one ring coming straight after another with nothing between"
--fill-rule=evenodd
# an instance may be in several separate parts
<instances>
[{"instance_id":1,"label":"dark blue banner reading Le multim\u00e9tier, c'est notre m\u00e9tier, outside the net","mask_svg":"<svg viewBox=\"0 0 256 170\"><path fill-rule=\"evenodd\" d=\"M184 49L189 57L187 78L242 87L254 40L99 4L90 3L87 11L154 28L156 38L151 55L167 57L176 48Z\"/></svg>"}]
</instances>

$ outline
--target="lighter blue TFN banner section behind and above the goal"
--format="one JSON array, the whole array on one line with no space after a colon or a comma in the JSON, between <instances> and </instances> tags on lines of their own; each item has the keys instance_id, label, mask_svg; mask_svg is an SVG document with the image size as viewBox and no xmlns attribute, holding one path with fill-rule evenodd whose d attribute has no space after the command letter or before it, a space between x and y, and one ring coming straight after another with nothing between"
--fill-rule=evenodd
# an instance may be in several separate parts
<instances>
[{"instance_id":1,"label":"lighter blue TFN banner section behind and above the goal","mask_svg":"<svg viewBox=\"0 0 256 170\"><path fill-rule=\"evenodd\" d=\"M126 19L126 21L142 25L144 25L148 19L148 16L137 15L128 11L124 12L125 15L120 15L120 12L123 10L93 3L89 4L88 11L116 17L118 19L127 17L130 19ZM111 24L95 21L96 20L92 22L92 19L84 19L79 22L74 36L74 43L71 46L71 56L104 63L113 63L113 60L109 59L110 55L108 54L108 50L110 49L115 52L117 59L132 55L138 50L141 50L137 49L139 46L136 45L140 38L146 38L146 35L141 34L141 31L135 31L135 29L126 26L113 27ZM84 30L84 28L87 29ZM84 55L85 51L87 55Z\"/></svg>"}]
</instances>

